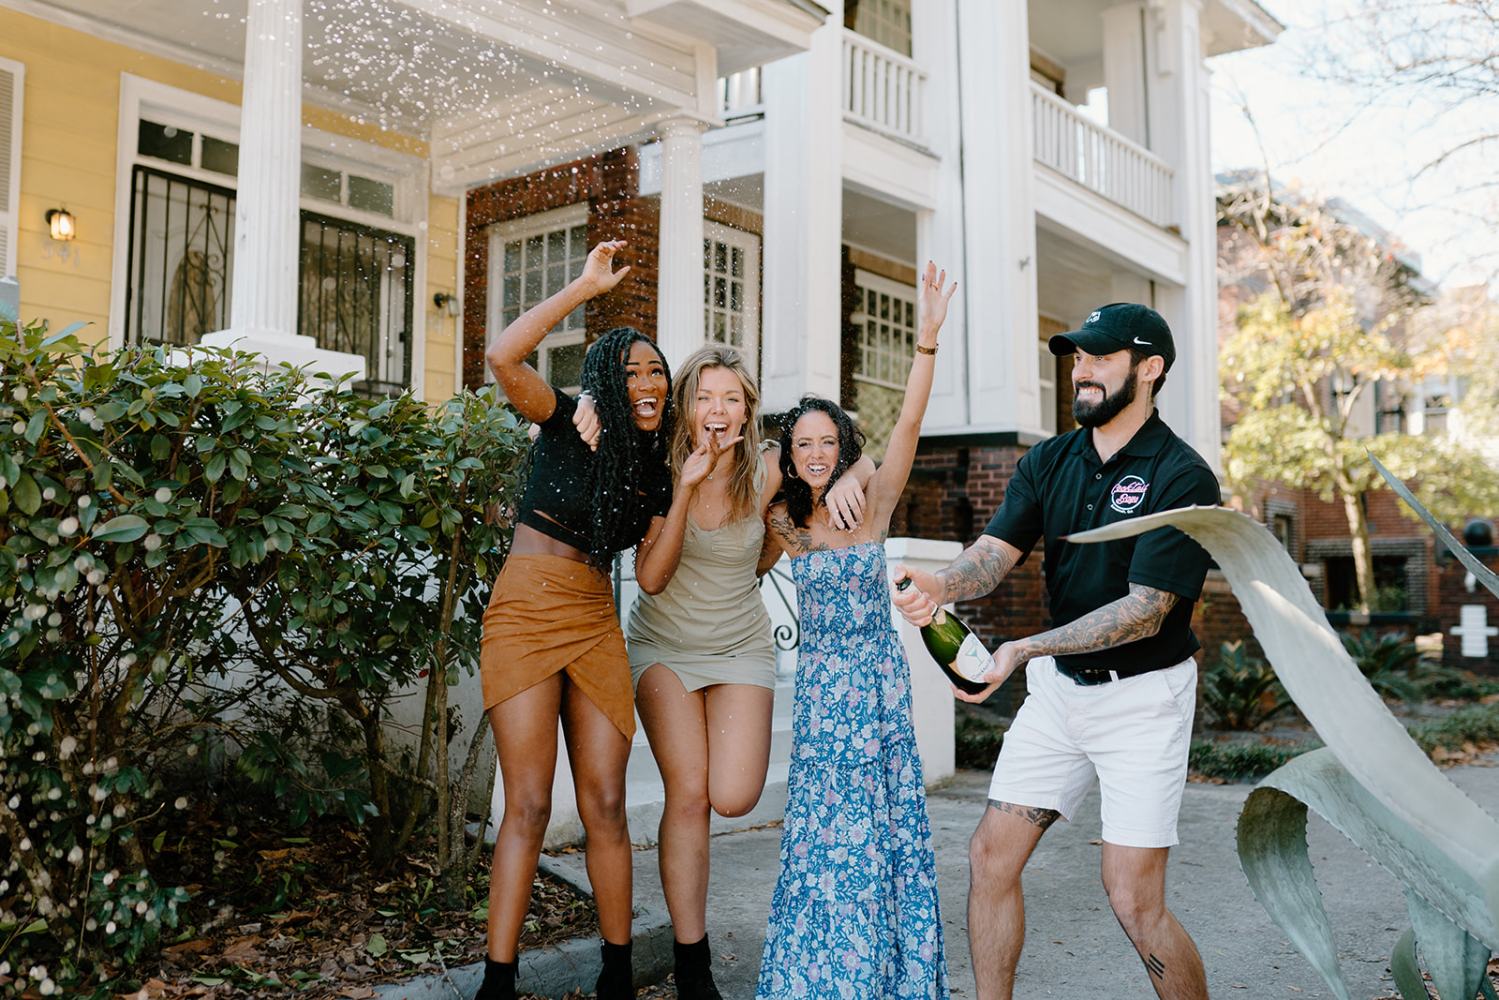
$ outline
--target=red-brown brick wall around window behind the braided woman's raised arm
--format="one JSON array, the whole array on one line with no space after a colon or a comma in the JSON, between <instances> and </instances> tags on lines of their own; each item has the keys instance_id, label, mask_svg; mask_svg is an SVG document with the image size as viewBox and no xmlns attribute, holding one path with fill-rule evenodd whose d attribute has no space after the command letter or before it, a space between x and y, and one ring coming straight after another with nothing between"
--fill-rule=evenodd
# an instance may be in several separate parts
<instances>
[{"instance_id":1,"label":"red-brown brick wall around window behind the braided woman's raised arm","mask_svg":"<svg viewBox=\"0 0 1499 1000\"><path fill-rule=\"evenodd\" d=\"M628 325L655 336L660 202L642 198L640 160L634 148L511 177L468 193L463 259L463 384L484 381L484 333L489 325L489 228L586 201L589 243L628 240L621 261L630 274L609 295L588 304L588 336Z\"/></svg>"}]
</instances>

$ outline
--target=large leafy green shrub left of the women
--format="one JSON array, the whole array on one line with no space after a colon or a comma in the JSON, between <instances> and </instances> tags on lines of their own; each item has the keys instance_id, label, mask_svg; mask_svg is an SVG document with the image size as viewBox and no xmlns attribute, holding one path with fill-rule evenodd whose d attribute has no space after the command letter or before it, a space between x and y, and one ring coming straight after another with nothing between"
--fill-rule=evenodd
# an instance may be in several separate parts
<instances>
[{"instance_id":1,"label":"large leafy green shrub left of the women","mask_svg":"<svg viewBox=\"0 0 1499 1000\"><path fill-rule=\"evenodd\" d=\"M235 757L292 819L367 822L387 858L421 823L454 843L478 742L454 781L447 688L477 663L507 528L486 514L523 454L492 397L433 411L0 324L9 972L75 993L150 951L184 898L150 834ZM423 672L417 753L391 759L388 699Z\"/></svg>"}]
</instances>

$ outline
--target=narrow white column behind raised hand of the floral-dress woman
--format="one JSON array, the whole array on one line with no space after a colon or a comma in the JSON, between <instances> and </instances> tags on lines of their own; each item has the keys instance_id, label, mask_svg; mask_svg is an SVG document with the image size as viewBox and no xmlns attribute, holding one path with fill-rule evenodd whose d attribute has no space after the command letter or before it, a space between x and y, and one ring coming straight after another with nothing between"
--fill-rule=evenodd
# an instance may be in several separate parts
<instances>
[{"instance_id":1,"label":"narrow white column behind raised hand of the floral-dress woman","mask_svg":"<svg viewBox=\"0 0 1499 1000\"><path fill-rule=\"evenodd\" d=\"M929 4L929 6L928 6ZM916 267L935 261L958 282L958 294L947 306L941 330L941 354L926 406L925 433L961 430L968 421L967 336L964 306L968 301L968 276L962 246L962 135L958 115L958 0L922 0L922 16L911 24L911 55L929 75L926 78L926 142L938 156L937 207L916 213Z\"/></svg>"}]
</instances>

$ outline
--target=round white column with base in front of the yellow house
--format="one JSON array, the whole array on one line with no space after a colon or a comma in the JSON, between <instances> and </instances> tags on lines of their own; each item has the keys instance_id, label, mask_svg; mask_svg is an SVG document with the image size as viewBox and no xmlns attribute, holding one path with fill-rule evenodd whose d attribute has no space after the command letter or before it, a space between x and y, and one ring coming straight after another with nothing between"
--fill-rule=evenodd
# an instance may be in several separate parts
<instances>
[{"instance_id":1,"label":"round white column with base in front of the yellow house","mask_svg":"<svg viewBox=\"0 0 1499 1000\"><path fill-rule=\"evenodd\" d=\"M229 328L202 343L363 378L363 357L321 351L312 337L297 336L300 199L301 0L250 0Z\"/></svg>"}]
</instances>

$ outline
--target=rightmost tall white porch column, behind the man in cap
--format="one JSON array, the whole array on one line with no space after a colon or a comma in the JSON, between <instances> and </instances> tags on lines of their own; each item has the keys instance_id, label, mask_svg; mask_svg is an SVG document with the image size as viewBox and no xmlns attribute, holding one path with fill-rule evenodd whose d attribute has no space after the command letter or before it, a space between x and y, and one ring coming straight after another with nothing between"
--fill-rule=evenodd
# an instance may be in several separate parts
<instances>
[{"instance_id":1,"label":"rightmost tall white porch column, behind the man in cap","mask_svg":"<svg viewBox=\"0 0 1499 1000\"><path fill-rule=\"evenodd\" d=\"M1160 285L1156 309L1171 324L1177 363L1160 397L1171 427L1222 469L1217 373L1217 241L1210 79L1202 61L1201 0L1160 0L1147 19L1151 151L1175 171L1174 216L1187 241L1186 283Z\"/></svg>"}]
</instances>

